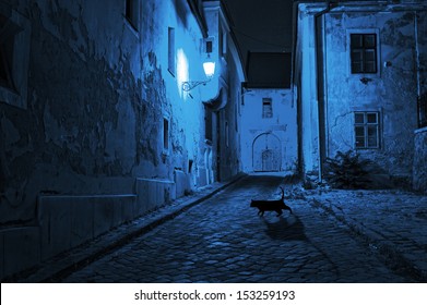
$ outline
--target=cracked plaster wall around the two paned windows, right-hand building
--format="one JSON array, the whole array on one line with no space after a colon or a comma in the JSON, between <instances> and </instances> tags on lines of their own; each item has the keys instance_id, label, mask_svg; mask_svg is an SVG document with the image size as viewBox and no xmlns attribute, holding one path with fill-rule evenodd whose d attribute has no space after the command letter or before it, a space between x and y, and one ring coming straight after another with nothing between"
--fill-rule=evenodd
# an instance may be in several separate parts
<instances>
[{"instance_id":1,"label":"cracked plaster wall around the two paned windows, right-hand building","mask_svg":"<svg viewBox=\"0 0 427 305\"><path fill-rule=\"evenodd\" d=\"M354 111L380 111L380 148L358 150L390 174L410 178L416 129L416 39L413 12L331 13L325 17L328 151L354 149ZM419 26L425 30L425 23ZM349 73L348 33L377 30L378 75ZM425 36L424 34L423 37ZM426 44L419 44L425 53ZM424 54L423 54L424 56ZM389 62L389 66L384 66ZM363 84L360 78L371 81Z\"/></svg>"}]
</instances>

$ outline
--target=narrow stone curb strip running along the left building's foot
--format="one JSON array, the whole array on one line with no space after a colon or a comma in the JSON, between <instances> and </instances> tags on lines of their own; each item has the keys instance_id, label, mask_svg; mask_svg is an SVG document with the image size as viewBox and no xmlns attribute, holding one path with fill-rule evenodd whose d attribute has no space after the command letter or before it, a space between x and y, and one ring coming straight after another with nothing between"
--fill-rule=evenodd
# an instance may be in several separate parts
<instances>
[{"instance_id":1,"label":"narrow stone curb strip running along the left building's foot","mask_svg":"<svg viewBox=\"0 0 427 305\"><path fill-rule=\"evenodd\" d=\"M17 276L3 279L2 282L60 282L68 274L84 268L107 253L118 249L132 239L145 234L157 225L174 219L181 212L211 198L245 176L247 174L240 173L226 183L215 183L202 187L190 197L178 198L171 205L161 207L158 210L144 215L130 223L121 224L93 241L45 261L41 267L36 267Z\"/></svg>"}]
</instances>

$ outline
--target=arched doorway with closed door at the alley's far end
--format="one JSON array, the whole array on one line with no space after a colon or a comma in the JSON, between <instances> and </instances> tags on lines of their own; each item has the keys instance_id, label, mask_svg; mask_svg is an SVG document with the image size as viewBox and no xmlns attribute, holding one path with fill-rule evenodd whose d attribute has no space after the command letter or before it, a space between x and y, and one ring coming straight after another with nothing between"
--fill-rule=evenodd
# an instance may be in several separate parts
<instances>
[{"instance_id":1,"label":"arched doorway with closed door at the alley's far end","mask_svg":"<svg viewBox=\"0 0 427 305\"><path fill-rule=\"evenodd\" d=\"M272 133L263 133L253 139L253 171L280 171L282 167L282 149L280 138Z\"/></svg>"}]
</instances>

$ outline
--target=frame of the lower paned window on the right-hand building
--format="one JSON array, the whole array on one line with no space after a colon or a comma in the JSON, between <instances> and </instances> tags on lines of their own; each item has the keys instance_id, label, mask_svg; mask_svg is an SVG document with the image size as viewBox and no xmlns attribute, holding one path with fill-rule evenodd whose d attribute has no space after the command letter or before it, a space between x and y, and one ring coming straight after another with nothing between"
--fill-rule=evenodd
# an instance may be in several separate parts
<instances>
[{"instance_id":1,"label":"frame of the lower paned window on the right-hand building","mask_svg":"<svg viewBox=\"0 0 427 305\"><path fill-rule=\"evenodd\" d=\"M354 147L355 149L380 149L381 148L381 112L370 110L355 110L353 115L354 124ZM356 115L363 115L363 122L357 122ZM369 122L368 115L375 114L376 121ZM375 137L369 134L369 130L375 129ZM357 130L363 131L363 135L358 135ZM358 138L363 138L363 145L358 146ZM375 138L376 144L370 145L370 139Z\"/></svg>"}]
</instances>

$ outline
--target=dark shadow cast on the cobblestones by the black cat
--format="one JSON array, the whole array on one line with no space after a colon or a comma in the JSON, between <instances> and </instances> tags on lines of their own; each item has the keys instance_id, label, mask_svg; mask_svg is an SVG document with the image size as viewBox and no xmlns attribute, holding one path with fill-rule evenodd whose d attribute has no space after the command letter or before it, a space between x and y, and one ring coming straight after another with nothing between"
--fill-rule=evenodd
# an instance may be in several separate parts
<instances>
[{"instance_id":1,"label":"dark shadow cast on the cobblestones by the black cat","mask_svg":"<svg viewBox=\"0 0 427 305\"><path fill-rule=\"evenodd\" d=\"M272 240L281 241L305 241L307 240L304 223L295 215L288 217L276 217L275 220L262 218L266 225L265 233Z\"/></svg>"}]
</instances>

